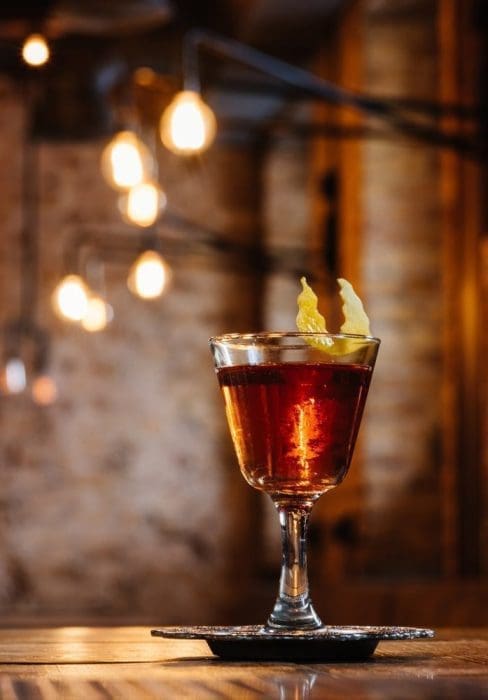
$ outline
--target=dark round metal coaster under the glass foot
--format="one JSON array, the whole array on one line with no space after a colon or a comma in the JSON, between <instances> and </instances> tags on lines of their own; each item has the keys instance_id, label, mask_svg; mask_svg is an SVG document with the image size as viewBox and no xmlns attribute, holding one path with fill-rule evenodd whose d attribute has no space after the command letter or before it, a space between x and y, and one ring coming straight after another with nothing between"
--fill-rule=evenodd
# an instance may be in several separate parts
<instances>
[{"instance_id":1,"label":"dark round metal coaster under the glass foot","mask_svg":"<svg viewBox=\"0 0 488 700\"><path fill-rule=\"evenodd\" d=\"M203 639L222 659L254 661L364 661L380 641L427 639L433 630L417 627L333 627L311 630L242 627L162 627L153 637Z\"/></svg>"}]
</instances>

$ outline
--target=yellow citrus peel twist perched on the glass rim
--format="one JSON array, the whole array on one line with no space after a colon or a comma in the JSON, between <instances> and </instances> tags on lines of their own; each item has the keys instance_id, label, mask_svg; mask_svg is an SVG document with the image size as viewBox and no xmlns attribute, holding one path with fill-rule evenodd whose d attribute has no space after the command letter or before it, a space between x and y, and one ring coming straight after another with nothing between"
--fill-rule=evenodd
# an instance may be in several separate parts
<instances>
[{"instance_id":1,"label":"yellow citrus peel twist perched on the glass rim","mask_svg":"<svg viewBox=\"0 0 488 700\"><path fill-rule=\"evenodd\" d=\"M300 333L327 333L325 318L318 310L317 295L307 284L305 277L302 277L300 282L302 283L302 291L297 299L298 314L296 320L298 330ZM343 301L342 311L344 313L341 333L370 335L369 319L352 284L342 278L338 279L337 282L341 288L340 296ZM330 337L305 338L305 340L309 345L331 355L345 355L354 349L354 345L346 338L336 338L335 341Z\"/></svg>"}]
</instances>

